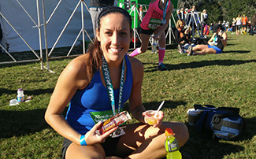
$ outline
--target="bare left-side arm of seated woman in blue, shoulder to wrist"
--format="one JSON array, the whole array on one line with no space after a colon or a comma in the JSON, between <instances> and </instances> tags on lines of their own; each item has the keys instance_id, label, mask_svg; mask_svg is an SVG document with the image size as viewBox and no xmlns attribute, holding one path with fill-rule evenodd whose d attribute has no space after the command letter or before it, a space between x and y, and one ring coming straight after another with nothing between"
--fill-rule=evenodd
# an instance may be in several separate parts
<instances>
[{"instance_id":1,"label":"bare left-side arm of seated woman in blue, shoulder to wrist","mask_svg":"<svg viewBox=\"0 0 256 159\"><path fill-rule=\"evenodd\" d=\"M81 76L85 74L85 69L81 69L83 65L80 57L77 57L61 72L45 113L46 122L60 135L76 144L80 144L80 133L70 127L62 112L80 88L81 81L86 83L86 77Z\"/></svg>"}]
</instances>

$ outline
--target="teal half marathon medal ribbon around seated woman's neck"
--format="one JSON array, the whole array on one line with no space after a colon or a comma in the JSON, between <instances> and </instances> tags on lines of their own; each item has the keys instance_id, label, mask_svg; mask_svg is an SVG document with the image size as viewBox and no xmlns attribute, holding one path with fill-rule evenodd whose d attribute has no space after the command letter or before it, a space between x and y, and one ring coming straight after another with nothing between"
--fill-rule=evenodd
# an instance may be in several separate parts
<instances>
[{"instance_id":1,"label":"teal half marathon medal ribbon around seated woman's neck","mask_svg":"<svg viewBox=\"0 0 256 159\"><path fill-rule=\"evenodd\" d=\"M122 97L123 97L123 90L124 90L124 62L125 62L125 59L123 59L123 62L122 62L120 88L119 88L119 99L118 99L118 112L117 113L120 113L121 102L122 102ZM103 72L104 80L106 83L106 89L109 94L109 101L111 103L113 116L115 116L116 111L115 111L115 98L114 98L114 93L113 93L113 84L112 84L112 81L110 78L108 64L106 63L106 59L103 56L102 56L102 72Z\"/></svg>"}]
</instances>

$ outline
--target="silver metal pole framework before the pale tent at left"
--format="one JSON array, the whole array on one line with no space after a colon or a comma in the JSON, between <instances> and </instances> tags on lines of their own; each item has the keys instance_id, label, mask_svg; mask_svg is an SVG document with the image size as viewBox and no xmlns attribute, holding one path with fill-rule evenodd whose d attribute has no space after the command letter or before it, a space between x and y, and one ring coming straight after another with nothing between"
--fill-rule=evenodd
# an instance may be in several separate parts
<instances>
[{"instance_id":1,"label":"silver metal pole framework before the pale tent at left","mask_svg":"<svg viewBox=\"0 0 256 159\"><path fill-rule=\"evenodd\" d=\"M87 7L87 4L84 2L84 0L78 0L77 4L76 4L76 8L72 11L72 14L70 15L69 17L69 20L66 22L64 28L62 29L60 35L58 35L58 39L55 41L54 43L54 46L51 47L51 49L48 51L48 40L47 40L47 24L49 24L51 18L54 16L54 13L56 12L56 10L58 9L58 7L60 6L62 0L59 0L58 1L58 4L57 6L55 6L53 12L50 14L50 17L48 19L46 19L46 9L45 9L45 0L42 0L41 4L42 4L42 10L43 10L43 24L40 23L40 17L42 17L42 15L40 15L39 13L39 10L41 9L40 6L39 6L39 0L36 0L36 9L37 9L37 22L35 22L36 20L33 20L32 16L28 13L28 11L24 8L24 6L22 6L22 4L19 2L19 0L16 0L17 4L20 6L20 8L24 11L24 13L26 13L26 15L30 18L30 20L32 20L32 23L35 25L33 26L34 28L37 28L38 29L38 34L39 34L39 39L36 39L36 40L39 40L39 53L40 53L40 56L39 54L37 54L35 52L35 50L32 48L32 46L29 45L29 42L26 41L24 39L24 37L20 34L19 31L17 31L17 29L13 26L13 24L11 24L9 22L9 20L6 18L6 16L1 13L0 11L0 15L1 17L3 18L3 20L6 20L6 22L9 24L9 26L13 29L13 31L16 32L16 34L20 37L20 39L22 39L22 41L25 43L25 45L28 46L29 50L32 51L33 54L35 54L35 57L37 58L36 60L35 59L31 59L31 60L17 60L17 58L13 57L12 54L9 53L9 50L8 50L8 47L5 47L5 46L2 46L2 44L0 43L0 46L2 48L2 50L12 59L12 61L3 61L3 62L0 62L0 64L13 64L13 63L25 63L25 62L29 62L29 61L40 61L41 62L41 69L43 68L46 68L47 70L50 71L50 67L49 67L49 64L50 64L50 59L56 59L56 58L61 58L60 57L51 57L51 55L53 54L54 52L54 49L57 45L57 43L59 42L59 40L61 39L61 36L63 35L65 29L67 28L67 26L69 25L70 23L70 20L72 19L72 17L74 16L74 13L76 13L77 9L80 7L81 9L81 29L80 29L80 32L78 33L78 35L76 36L76 39L75 41L72 43L72 46L69 50L69 52L65 55L65 56L62 56L62 57L72 57L72 56L79 56L80 54L76 54L76 55L70 55L71 54L71 51L72 49L74 48L74 46L76 45L76 42L77 40L79 39L80 35L82 34L83 36L83 53L85 52L85 35L87 35L88 39L90 39L90 41L92 42L92 39L90 37L90 35L88 34L88 32L86 31L86 29L84 28L84 12L88 12L89 13L89 9ZM84 9L84 6L86 9ZM91 17L87 18L87 19L91 19ZM41 34L41 32L44 33L44 38ZM44 40L43 40L44 39ZM45 43L45 54L46 54L46 67L43 66L43 41ZM20 57L21 56L24 56L23 55L24 53L21 53L20 54Z\"/></svg>"}]
</instances>

